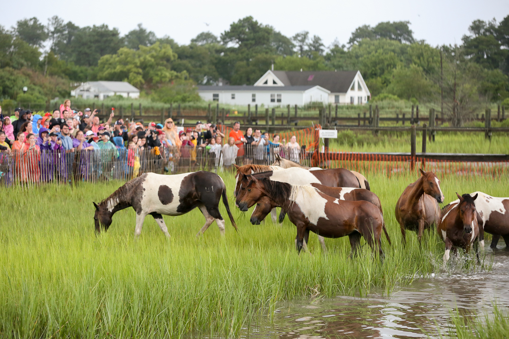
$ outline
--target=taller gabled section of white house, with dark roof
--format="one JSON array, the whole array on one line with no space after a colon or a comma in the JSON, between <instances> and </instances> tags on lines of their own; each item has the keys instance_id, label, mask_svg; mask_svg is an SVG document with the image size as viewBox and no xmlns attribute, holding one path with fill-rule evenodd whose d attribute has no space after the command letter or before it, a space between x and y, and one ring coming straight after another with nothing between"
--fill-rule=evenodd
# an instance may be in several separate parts
<instances>
[{"instance_id":1,"label":"taller gabled section of white house, with dark roof","mask_svg":"<svg viewBox=\"0 0 509 339\"><path fill-rule=\"evenodd\" d=\"M285 87L318 85L330 91L329 103L362 105L370 90L359 71L267 71L254 86Z\"/></svg>"}]
</instances>

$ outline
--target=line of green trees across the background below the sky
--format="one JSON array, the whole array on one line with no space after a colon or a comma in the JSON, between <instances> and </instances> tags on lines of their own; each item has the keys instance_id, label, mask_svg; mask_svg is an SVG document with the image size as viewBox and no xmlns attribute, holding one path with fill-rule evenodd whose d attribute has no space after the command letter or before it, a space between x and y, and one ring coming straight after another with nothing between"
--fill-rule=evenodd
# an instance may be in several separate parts
<instances>
[{"instance_id":1,"label":"line of green trees across the background below the sky","mask_svg":"<svg viewBox=\"0 0 509 339\"><path fill-rule=\"evenodd\" d=\"M203 32L179 45L142 24L121 36L107 24L23 19L0 26L0 100L39 102L66 97L80 82L120 80L155 101L195 101L196 84L253 84L272 64L287 71L360 70L379 100L437 102L443 93L448 110L467 115L509 97L509 16L473 21L457 45L417 41L409 24L362 25L346 44L336 39L325 46L307 31L286 37L248 16L219 37Z\"/></svg>"}]
</instances>

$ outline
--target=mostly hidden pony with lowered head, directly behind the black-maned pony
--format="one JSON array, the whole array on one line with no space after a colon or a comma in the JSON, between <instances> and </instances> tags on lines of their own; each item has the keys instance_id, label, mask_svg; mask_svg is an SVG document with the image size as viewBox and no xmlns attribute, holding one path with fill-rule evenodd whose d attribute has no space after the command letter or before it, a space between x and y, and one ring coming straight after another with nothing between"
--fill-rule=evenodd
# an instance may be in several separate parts
<instances>
[{"instance_id":1,"label":"mostly hidden pony with lowered head, directly behind the black-maned pony","mask_svg":"<svg viewBox=\"0 0 509 339\"><path fill-rule=\"evenodd\" d=\"M382 213L382 206L380 205L380 199L374 194L373 192L370 192L368 190L364 189L354 189L350 187L328 187L323 186L319 183L312 183L311 186L314 188L317 188L320 192L328 195L329 197L338 198L340 200L347 200L347 201L359 201L364 200L371 202L375 206L377 206L380 209L380 213ZM254 207L254 210L251 214L250 222L253 225L260 225L260 223L267 217L267 215L270 213L270 211L274 207L281 207L279 206L275 201L271 200L269 197L263 197L256 203L256 207ZM391 244L389 235L387 234L387 230L385 228L385 223L382 227L385 236L387 238L387 241L389 242L389 245ZM320 244L322 245L322 249L325 251L325 240L324 237L318 236L318 240L320 241Z\"/></svg>"}]
</instances>

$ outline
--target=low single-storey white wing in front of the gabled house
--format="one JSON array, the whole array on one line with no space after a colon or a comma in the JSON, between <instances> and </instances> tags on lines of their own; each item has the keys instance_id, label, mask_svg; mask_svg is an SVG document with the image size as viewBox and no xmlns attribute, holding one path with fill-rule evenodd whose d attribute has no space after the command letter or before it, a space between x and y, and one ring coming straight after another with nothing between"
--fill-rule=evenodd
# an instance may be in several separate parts
<instances>
[{"instance_id":1,"label":"low single-storey white wing in front of the gabled house","mask_svg":"<svg viewBox=\"0 0 509 339\"><path fill-rule=\"evenodd\" d=\"M286 106L310 102L329 103L330 91L319 85L304 86L198 86L205 101L230 105Z\"/></svg>"}]
</instances>

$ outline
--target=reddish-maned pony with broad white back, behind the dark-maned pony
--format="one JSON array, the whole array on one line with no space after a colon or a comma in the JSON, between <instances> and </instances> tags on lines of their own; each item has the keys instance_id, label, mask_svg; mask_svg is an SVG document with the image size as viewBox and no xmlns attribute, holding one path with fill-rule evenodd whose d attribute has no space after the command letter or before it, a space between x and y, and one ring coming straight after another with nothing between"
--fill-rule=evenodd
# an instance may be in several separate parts
<instances>
[{"instance_id":1,"label":"reddish-maned pony with broad white back, behind the dark-maned pony","mask_svg":"<svg viewBox=\"0 0 509 339\"><path fill-rule=\"evenodd\" d=\"M281 168L279 166L265 166L265 165L244 165L235 166L237 174L235 175L235 191L236 196L239 191L239 175L241 174L254 174L264 173L264 176L270 180L281 181L293 185L306 185L313 182L321 183L331 187L355 187L359 188L357 177L347 169L334 168L326 170L310 171L300 167ZM281 216L282 215L282 216ZM272 221L276 221L276 210L271 212ZM279 222L285 219L285 214L279 215Z\"/></svg>"}]
</instances>

